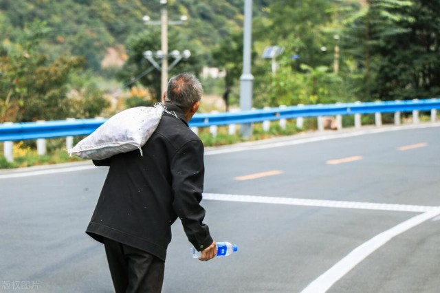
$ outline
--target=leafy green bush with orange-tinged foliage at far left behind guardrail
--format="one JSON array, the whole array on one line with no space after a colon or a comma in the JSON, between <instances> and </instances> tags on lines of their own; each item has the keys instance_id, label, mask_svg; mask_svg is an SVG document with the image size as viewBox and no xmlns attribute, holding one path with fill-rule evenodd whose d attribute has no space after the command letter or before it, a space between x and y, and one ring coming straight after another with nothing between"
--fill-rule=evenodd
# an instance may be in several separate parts
<instances>
[{"instance_id":1,"label":"leafy green bush with orange-tinged foliage at far left behind guardrail","mask_svg":"<svg viewBox=\"0 0 440 293\"><path fill-rule=\"evenodd\" d=\"M39 53L39 41L47 32L45 23L34 21L25 27L19 43L3 45L0 56L0 121L56 120L72 116L67 98L69 80L85 64L84 58L61 56L50 61ZM85 92L87 99L92 91ZM94 92L96 101L102 99ZM90 100L89 100L90 102ZM102 109L100 109L102 111Z\"/></svg>"}]
</instances>

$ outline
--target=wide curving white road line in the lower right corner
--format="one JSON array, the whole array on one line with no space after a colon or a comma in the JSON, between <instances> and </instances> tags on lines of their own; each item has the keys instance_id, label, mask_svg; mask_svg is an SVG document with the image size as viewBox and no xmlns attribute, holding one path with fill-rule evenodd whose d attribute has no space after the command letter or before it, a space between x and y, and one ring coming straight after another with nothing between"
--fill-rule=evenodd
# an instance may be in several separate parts
<instances>
[{"instance_id":1,"label":"wide curving white road line in the lower right corner","mask_svg":"<svg viewBox=\"0 0 440 293\"><path fill-rule=\"evenodd\" d=\"M358 248L355 248L355 250L350 252L347 257L344 257L342 260L336 263L336 265L333 265L333 267L327 270L327 272L320 275L318 279L311 282L307 287L305 287L305 289L301 291L301 293L327 292L327 290L329 290L329 288L334 283L336 283L345 274L352 270L355 265L358 265L358 263L366 259L366 257L375 252L375 250L384 246L385 243L387 243L397 235L406 232L410 228L422 224L424 221L428 221L429 219L437 217L438 215L440 215L439 208L412 217L411 219L408 219L407 221L404 221L401 224L389 230L386 230L379 235L376 235L369 241L363 243L361 246L358 246Z\"/></svg>"}]
</instances>

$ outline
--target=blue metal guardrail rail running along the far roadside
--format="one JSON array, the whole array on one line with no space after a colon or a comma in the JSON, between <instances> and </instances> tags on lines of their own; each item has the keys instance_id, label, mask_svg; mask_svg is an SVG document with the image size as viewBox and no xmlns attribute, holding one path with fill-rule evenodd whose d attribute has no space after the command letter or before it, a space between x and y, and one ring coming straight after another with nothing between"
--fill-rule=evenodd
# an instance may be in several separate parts
<instances>
[{"instance_id":1,"label":"blue metal guardrail rail running along the far roadside","mask_svg":"<svg viewBox=\"0 0 440 293\"><path fill-rule=\"evenodd\" d=\"M387 102L336 103L329 105L298 105L251 111L197 113L189 124L190 127L210 127L293 118L432 111L433 109L440 109L439 98ZM0 142L89 135L106 120L107 119L101 118L3 123L0 124Z\"/></svg>"}]
</instances>

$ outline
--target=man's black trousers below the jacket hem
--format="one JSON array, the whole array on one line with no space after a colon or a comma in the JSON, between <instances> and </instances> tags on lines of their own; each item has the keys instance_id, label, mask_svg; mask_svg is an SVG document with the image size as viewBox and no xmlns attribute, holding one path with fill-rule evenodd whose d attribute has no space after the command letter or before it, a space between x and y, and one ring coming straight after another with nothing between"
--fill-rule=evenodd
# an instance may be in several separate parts
<instances>
[{"instance_id":1,"label":"man's black trousers below the jacket hem","mask_svg":"<svg viewBox=\"0 0 440 293\"><path fill-rule=\"evenodd\" d=\"M159 293L165 262L148 252L104 238L105 253L116 293Z\"/></svg>"}]
</instances>

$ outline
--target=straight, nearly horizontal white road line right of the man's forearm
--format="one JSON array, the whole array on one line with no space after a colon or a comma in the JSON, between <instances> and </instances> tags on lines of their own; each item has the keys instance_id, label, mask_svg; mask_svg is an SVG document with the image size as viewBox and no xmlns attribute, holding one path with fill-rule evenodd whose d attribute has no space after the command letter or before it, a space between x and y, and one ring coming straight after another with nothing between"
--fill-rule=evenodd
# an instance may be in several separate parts
<instances>
[{"instance_id":1,"label":"straight, nearly horizontal white road line right of the man's forearm","mask_svg":"<svg viewBox=\"0 0 440 293\"><path fill-rule=\"evenodd\" d=\"M437 210L438 206L412 206L406 204L375 204L371 202L343 202L321 199L300 199L290 197L265 197L254 195L225 195L203 193L203 199L224 202L251 202L256 204L285 204L290 206L320 206L322 208L354 208L360 210L388 210L393 212L425 213Z\"/></svg>"}]
</instances>

